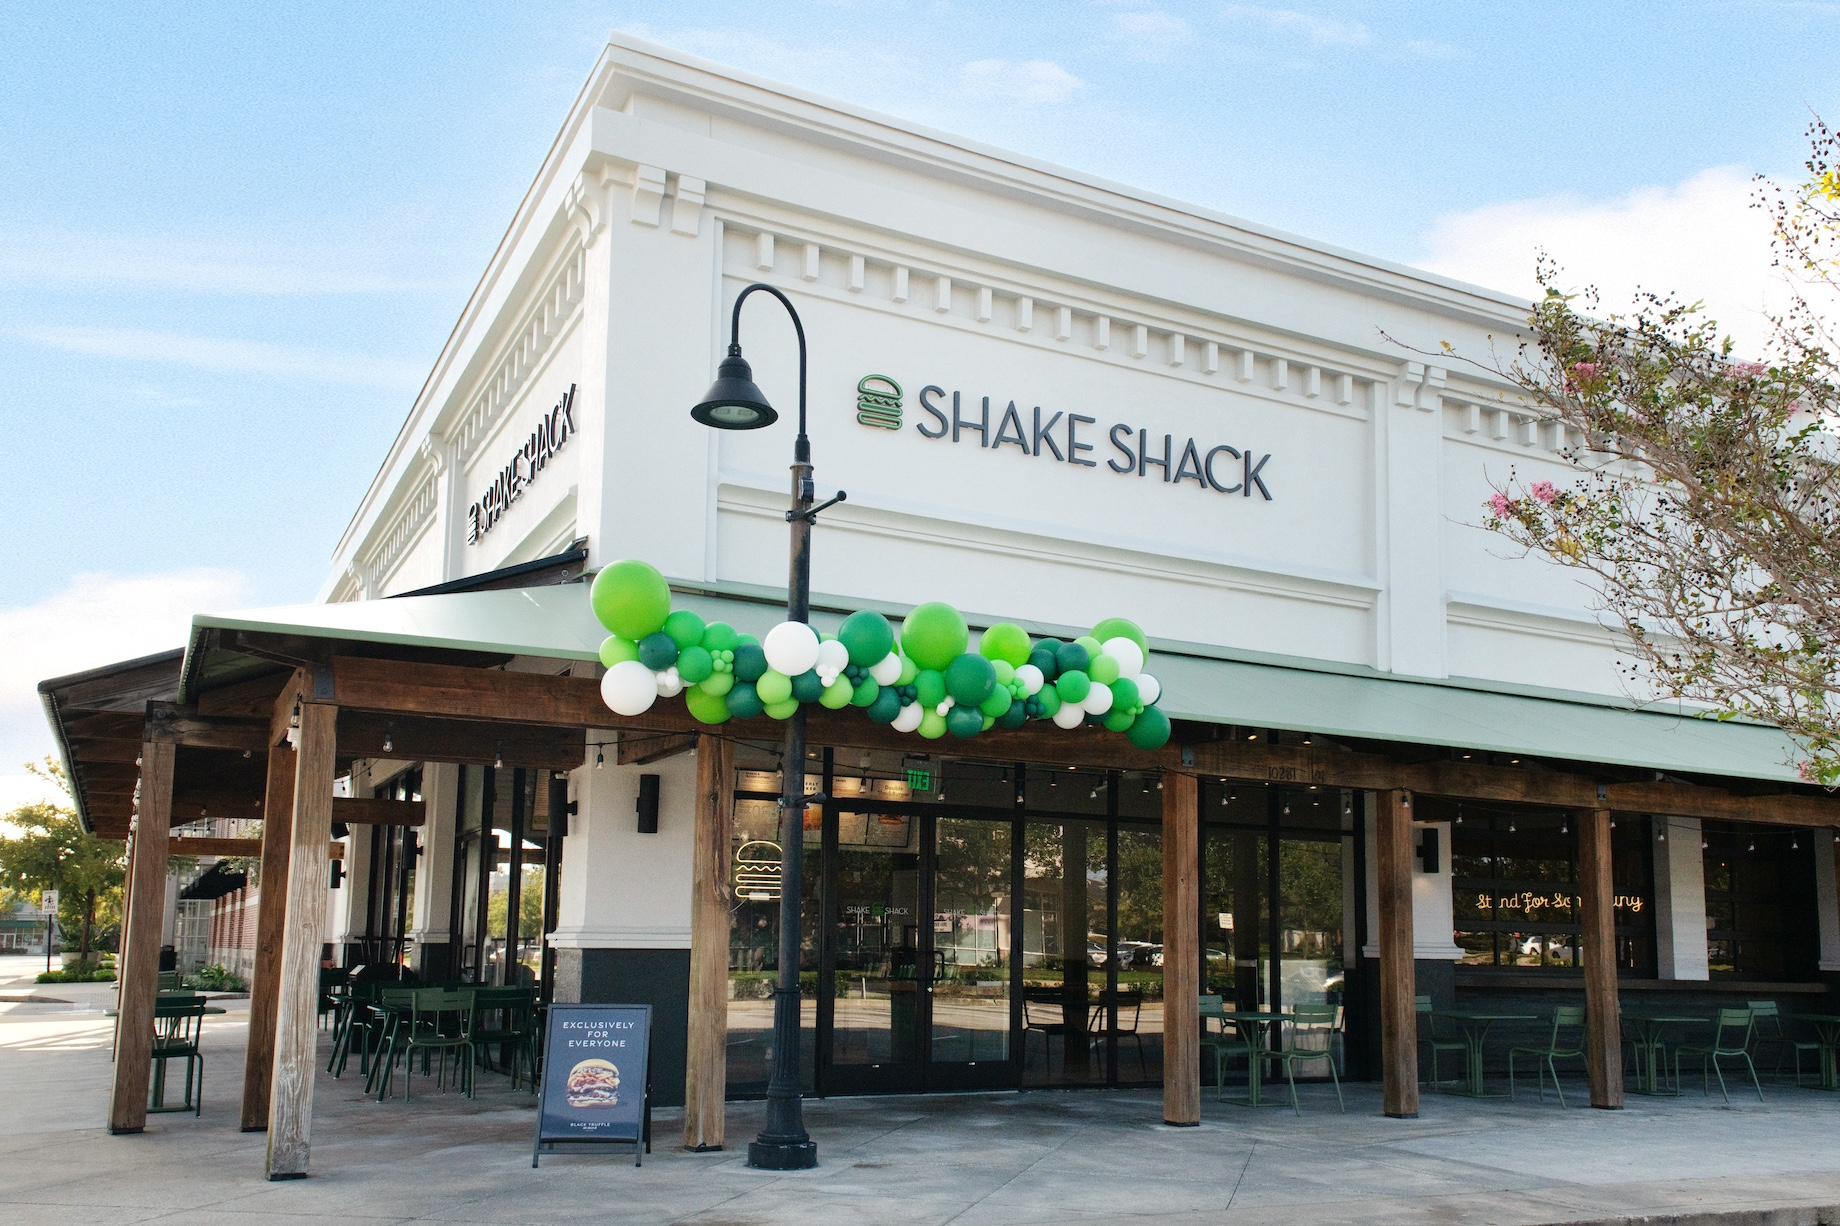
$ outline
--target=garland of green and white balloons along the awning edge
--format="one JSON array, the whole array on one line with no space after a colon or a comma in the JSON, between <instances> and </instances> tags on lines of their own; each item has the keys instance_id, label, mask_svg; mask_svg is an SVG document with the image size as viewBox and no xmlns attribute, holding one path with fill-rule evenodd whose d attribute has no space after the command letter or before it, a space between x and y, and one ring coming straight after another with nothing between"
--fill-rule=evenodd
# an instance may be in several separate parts
<instances>
[{"instance_id":1,"label":"garland of green and white balloons along the awning edge","mask_svg":"<svg viewBox=\"0 0 1840 1226\"><path fill-rule=\"evenodd\" d=\"M992 727L1052 720L1098 723L1139 749L1168 742L1163 687L1144 672L1144 633L1110 617L1073 642L1030 639L1014 622L986 630L977 648L964 617L948 604L922 604L896 633L880 613L843 619L835 635L780 622L765 639L727 622L672 611L672 589L646 561L615 561L589 589L607 628L600 694L624 716L659 698L684 696L703 723L767 714L786 720L800 703L830 711L861 707L876 723L927 740L977 736Z\"/></svg>"}]
</instances>

